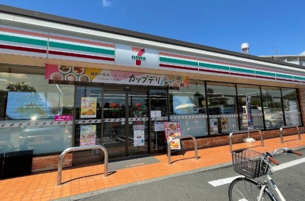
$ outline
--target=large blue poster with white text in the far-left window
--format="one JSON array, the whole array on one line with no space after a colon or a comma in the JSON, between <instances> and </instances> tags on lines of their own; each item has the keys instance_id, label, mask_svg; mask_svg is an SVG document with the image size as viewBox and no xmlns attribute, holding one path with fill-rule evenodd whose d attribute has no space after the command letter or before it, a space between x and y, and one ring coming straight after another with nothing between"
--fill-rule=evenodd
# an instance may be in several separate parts
<instances>
[{"instance_id":1,"label":"large blue poster with white text in the far-left window","mask_svg":"<svg viewBox=\"0 0 305 201\"><path fill-rule=\"evenodd\" d=\"M58 107L56 109L58 110ZM47 93L8 92L7 119L50 119L57 113L58 111L52 112Z\"/></svg>"}]
</instances>

